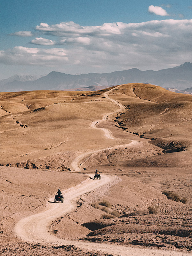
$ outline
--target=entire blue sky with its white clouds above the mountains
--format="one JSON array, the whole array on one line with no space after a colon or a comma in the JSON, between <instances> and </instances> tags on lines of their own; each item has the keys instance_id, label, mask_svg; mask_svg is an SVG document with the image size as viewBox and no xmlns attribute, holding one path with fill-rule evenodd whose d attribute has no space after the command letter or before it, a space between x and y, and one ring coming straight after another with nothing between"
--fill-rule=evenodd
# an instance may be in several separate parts
<instances>
[{"instance_id":1,"label":"entire blue sky with its white clouds above the mountains","mask_svg":"<svg viewBox=\"0 0 192 256\"><path fill-rule=\"evenodd\" d=\"M1 79L191 62L191 0L1 0Z\"/></svg>"}]
</instances>

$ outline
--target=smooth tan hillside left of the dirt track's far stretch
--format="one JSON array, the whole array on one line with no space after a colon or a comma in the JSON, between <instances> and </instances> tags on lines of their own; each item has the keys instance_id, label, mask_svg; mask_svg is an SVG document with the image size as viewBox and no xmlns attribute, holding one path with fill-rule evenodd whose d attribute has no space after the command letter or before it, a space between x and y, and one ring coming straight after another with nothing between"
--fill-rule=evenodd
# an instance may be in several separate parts
<instances>
[{"instance_id":1,"label":"smooth tan hillside left of the dirt track's far stretch","mask_svg":"<svg viewBox=\"0 0 192 256\"><path fill-rule=\"evenodd\" d=\"M65 160L63 158L65 162L78 150L111 146L111 141L104 137L103 131L91 128L90 124L102 119L103 114L118 109L118 106L106 101L73 103L74 97L76 95L70 96L70 100L62 100L64 102L55 98L58 101L56 104L52 98L23 100L23 106L26 104L31 109L26 107L27 110L22 112L21 101L17 99L15 105L18 106L18 113L15 113L15 105L12 106L13 101L9 105L7 99L2 100L1 104L8 104L6 109L13 114L5 112L0 118L1 163L21 162L60 153L66 154Z\"/></svg>"}]
</instances>

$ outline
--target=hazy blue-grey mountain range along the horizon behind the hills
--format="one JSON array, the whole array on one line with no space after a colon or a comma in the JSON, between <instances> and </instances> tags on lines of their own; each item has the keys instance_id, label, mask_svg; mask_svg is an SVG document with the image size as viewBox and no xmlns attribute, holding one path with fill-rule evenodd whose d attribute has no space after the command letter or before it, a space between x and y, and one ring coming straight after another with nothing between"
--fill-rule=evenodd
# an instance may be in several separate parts
<instances>
[{"instance_id":1,"label":"hazy blue-grey mountain range along the horizon behind the hills","mask_svg":"<svg viewBox=\"0 0 192 256\"><path fill-rule=\"evenodd\" d=\"M33 78L18 78L12 76L8 79L1 80L1 92L17 92L17 91L33 91L33 90L71 90L74 88L84 88L89 90L94 88L107 88L118 84L128 83L149 83L159 85L164 88L175 88L184 90L191 87L192 83L192 63L185 62L184 64L174 67L161 69L158 71L146 70L141 71L137 68L132 68L123 71L115 71L112 73L89 73L81 75L67 75L65 73L52 71L47 76L38 79ZM14 78L15 77L15 78ZM22 80L28 79L28 80ZM100 90L99 89L99 90ZM93 88L92 88L93 90Z\"/></svg>"}]
</instances>

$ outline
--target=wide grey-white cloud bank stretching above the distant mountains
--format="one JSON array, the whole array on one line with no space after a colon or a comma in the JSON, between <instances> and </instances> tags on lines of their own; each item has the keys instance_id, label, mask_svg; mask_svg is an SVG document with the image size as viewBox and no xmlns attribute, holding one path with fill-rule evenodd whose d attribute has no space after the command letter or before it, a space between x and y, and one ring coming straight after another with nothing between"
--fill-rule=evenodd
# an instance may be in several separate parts
<instances>
[{"instance_id":1,"label":"wide grey-white cloud bank stretching above the distant mountains","mask_svg":"<svg viewBox=\"0 0 192 256\"><path fill-rule=\"evenodd\" d=\"M55 33L57 42L43 37L31 42L53 48L14 47L1 52L1 62L55 67L79 65L81 70L84 67L83 72L87 69L89 72L103 72L108 67L121 70L130 66L142 70L159 69L164 68L165 63L190 61L191 26L192 20L173 19L128 24L117 22L92 27L82 27L74 22L41 23L38 29L48 36ZM61 48L55 48L54 44Z\"/></svg>"}]
</instances>

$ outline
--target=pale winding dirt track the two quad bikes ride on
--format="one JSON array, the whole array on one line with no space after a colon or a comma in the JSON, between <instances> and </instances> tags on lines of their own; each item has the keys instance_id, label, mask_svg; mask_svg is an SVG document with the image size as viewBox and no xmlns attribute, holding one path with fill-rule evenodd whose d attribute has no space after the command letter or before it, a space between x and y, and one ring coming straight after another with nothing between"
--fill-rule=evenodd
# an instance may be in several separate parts
<instances>
[{"instance_id":1,"label":"pale winding dirt track the two quad bikes ride on","mask_svg":"<svg viewBox=\"0 0 192 256\"><path fill-rule=\"evenodd\" d=\"M110 90L109 92L111 92ZM109 93L108 92L108 93ZM105 94L105 97L107 99L110 99L107 94ZM117 104L120 109L113 112L119 112L122 111L125 107L121 105L116 100L110 99L112 102ZM107 114L103 117L102 120L97 120L92 122L91 127L97 128L95 125L98 122L102 122L104 120L107 120L107 117L113 113ZM99 128L97 128L99 129ZM107 129L104 129L104 133L107 138L109 139L115 139L112 137L112 134ZM132 141L128 144L128 146L132 146L134 144L138 143L138 141ZM119 145L122 146L122 145ZM117 147L117 146L116 146ZM86 152L79 156L77 156L73 162L73 168L75 171L79 171L79 163L83 161L83 159L86 156L89 156L96 151L92 152ZM57 218L60 218L64 216L65 214L73 211L76 206L73 204L73 201L96 188L99 188L109 182L113 182L116 180L115 176L108 176L108 175L102 175L101 180L92 180L90 178L84 180L79 185L77 185L74 188L70 188L66 191L63 191L64 195L64 203L47 203L46 209L43 212L31 215L29 217L21 219L15 226L15 233L16 236L21 238L22 240L25 240L29 243L45 243L45 244L57 244L57 245L76 245L80 248L88 249L89 251L100 251L105 253L111 253L113 255L122 255L122 256L184 256L189 255L188 253L184 252L173 252L173 251L160 251L160 250L148 250L148 249L139 249L139 248L132 248L132 247L125 247L120 246L116 244L102 244L102 243L92 243L92 242L81 242L81 241L72 241L72 240L65 240L60 239L57 236L55 236L51 231L49 231L50 225L54 220ZM53 202L53 198L50 199L50 201Z\"/></svg>"}]
</instances>

